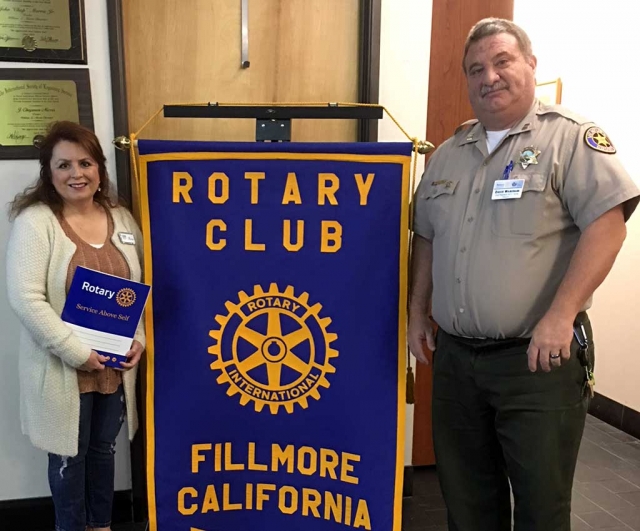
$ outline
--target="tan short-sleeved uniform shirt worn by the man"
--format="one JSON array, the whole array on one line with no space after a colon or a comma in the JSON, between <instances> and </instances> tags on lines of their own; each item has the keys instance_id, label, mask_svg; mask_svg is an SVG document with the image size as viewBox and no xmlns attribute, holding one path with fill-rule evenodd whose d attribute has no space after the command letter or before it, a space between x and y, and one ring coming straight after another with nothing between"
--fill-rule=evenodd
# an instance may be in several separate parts
<instances>
[{"instance_id":1,"label":"tan short-sleeved uniform shirt worn by the man","mask_svg":"<svg viewBox=\"0 0 640 531\"><path fill-rule=\"evenodd\" d=\"M640 191L615 154L589 147L594 132L593 123L536 101L491 154L476 122L430 158L413 230L433 242L433 316L446 332L529 337L581 231L622 203L629 218ZM602 149L615 151L607 140ZM537 164L523 168L521 153L530 147L540 152ZM524 179L522 197L492 200L494 182L511 161L509 178Z\"/></svg>"}]
</instances>

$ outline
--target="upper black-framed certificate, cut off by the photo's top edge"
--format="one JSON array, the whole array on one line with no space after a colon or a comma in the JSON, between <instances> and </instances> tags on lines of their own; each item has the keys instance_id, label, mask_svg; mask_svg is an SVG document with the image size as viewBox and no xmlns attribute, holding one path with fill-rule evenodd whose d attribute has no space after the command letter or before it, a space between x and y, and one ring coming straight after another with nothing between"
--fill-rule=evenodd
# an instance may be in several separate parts
<instances>
[{"instance_id":1,"label":"upper black-framed certificate, cut off by the photo's top edge","mask_svg":"<svg viewBox=\"0 0 640 531\"><path fill-rule=\"evenodd\" d=\"M84 0L0 0L0 61L86 64Z\"/></svg>"}]
</instances>

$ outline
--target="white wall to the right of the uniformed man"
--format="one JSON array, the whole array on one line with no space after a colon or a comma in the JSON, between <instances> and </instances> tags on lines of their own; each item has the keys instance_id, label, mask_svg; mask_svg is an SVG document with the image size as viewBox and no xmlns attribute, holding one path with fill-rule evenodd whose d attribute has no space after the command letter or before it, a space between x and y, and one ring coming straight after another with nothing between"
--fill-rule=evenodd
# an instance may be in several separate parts
<instances>
[{"instance_id":1,"label":"white wall to the right of the uniformed man","mask_svg":"<svg viewBox=\"0 0 640 531\"><path fill-rule=\"evenodd\" d=\"M599 0L576 4L515 0L514 20L531 37L538 57L538 82L560 77L562 104L608 133L627 171L640 183L637 2L617 0L606 8ZM596 343L596 390L640 411L640 211L627 229L627 241L596 291L590 316Z\"/></svg>"}]
</instances>

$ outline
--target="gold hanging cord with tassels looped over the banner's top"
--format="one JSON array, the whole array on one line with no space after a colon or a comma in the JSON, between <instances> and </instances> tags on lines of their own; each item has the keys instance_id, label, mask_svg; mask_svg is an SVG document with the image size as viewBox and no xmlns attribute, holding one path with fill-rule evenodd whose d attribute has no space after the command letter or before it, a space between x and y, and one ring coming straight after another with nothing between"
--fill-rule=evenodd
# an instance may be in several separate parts
<instances>
[{"instance_id":1,"label":"gold hanging cord with tassels looped over the banner's top","mask_svg":"<svg viewBox=\"0 0 640 531\"><path fill-rule=\"evenodd\" d=\"M179 103L179 104L167 104L167 105L182 105L184 107L209 107L210 103ZM328 102L287 102L287 103L216 103L219 107L327 107L330 105ZM416 183L416 171L418 167L418 155L426 155L435 149L435 146L426 140L418 140L417 137L410 136L409 133L400 125L398 120L389 112L384 105L377 103L332 103L331 105L337 105L338 107L377 107L382 109L394 124L402 131L404 136L413 144L413 150L411 152L411 177L409 179L410 197L413 196ZM131 200L132 210L134 217L140 222L140 179L138 176L138 146L137 139L140 133L164 110L164 105L160 107L135 133L131 133L129 137L118 137L114 139L113 143L118 149L129 149L130 160L133 173L133 182L131 186ZM409 228L413 223L413 201L409 200ZM409 258L411 255L411 231L409 232ZM407 267L410 267L411 260L408 260ZM407 278L411 279L411 272ZM410 285L408 286L410 288ZM407 347L407 378L406 378L406 402L407 404L413 404L415 401L414 394L415 378L413 375L413 369L411 368L411 354Z\"/></svg>"}]
</instances>

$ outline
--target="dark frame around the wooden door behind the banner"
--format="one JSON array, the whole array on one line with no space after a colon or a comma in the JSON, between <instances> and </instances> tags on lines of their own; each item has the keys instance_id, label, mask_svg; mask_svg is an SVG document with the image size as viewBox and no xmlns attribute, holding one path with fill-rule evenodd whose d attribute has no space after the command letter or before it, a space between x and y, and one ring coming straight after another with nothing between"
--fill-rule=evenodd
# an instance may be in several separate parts
<instances>
[{"instance_id":1,"label":"dark frame around the wooden door behind the banner","mask_svg":"<svg viewBox=\"0 0 640 531\"><path fill-rule=\"evenodd\" d=\"M113 130L115 136L129 134L127 112L127 81L124 57L123 0L105 0L111 62L111 97L113 100ZM382 0L360 0L358 103L379 103L380 94L380 18ZM358 141L377 142L378 121L359 120ZM131 167L129 154L116 149L118 195L125 204L132 204ZM143 371L141 370L140 373ZM144 421L145 396L142 378L138 378L138 417L142 419L131 443L132 516L135 522L147 519L147 485Z\"/></svg>"}]
</instances>

